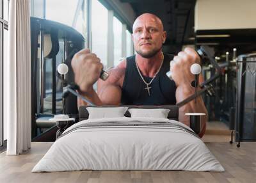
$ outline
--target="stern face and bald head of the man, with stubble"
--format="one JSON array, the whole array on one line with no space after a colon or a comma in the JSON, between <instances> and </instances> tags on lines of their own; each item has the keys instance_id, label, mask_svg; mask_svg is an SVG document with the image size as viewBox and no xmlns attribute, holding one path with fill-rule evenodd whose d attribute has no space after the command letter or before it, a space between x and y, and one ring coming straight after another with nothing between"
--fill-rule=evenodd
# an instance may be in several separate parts
<instances>
[{"instance_id":1,"label":"stern face and bald head of the man, with stubble","mask_svg":"<svg viewBox=\"0 0 256 183\"><path fill-rule=\"evenodd\" d=\"M163 24L152 16L143 16L135 20L132 40L134 49L144 58L150 58L162 48L166 38Z\"/></svg>"}]
</instances>

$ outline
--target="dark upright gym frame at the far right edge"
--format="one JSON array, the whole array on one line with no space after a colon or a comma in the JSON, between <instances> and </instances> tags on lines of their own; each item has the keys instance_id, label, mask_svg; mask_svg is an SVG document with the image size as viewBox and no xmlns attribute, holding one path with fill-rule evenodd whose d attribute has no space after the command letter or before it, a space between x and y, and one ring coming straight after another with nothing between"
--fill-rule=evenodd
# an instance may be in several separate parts
<instances>
[{"instance_id":1,"label":"dark upright gym frame at the far right edge","mask_svg":"<svg viewBox=\"0 0 256 183\"><path fill-rule=\"evenodd\" d=\"M256 54L237 58L236 141L256 141ZM230 141L232 142L232 140Z\"/></svg>"}]
</instances>

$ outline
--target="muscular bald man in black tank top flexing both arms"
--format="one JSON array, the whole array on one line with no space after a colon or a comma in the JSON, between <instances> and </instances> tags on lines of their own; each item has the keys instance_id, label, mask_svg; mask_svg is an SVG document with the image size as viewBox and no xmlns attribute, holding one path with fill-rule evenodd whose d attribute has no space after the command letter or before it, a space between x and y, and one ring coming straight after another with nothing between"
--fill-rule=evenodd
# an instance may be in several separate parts
<instances>
[{"instance_id":1,"label":"muscular bald man in black tank top flexing both arms","mask_svg":"<svg viewBox=\"0 0 256 183\"><path fill-rule=\"evenodd\" d=\"M97 106L102 105L174 105L195 93L191 81L193 63L200 63L198 54L190 48L179 52L177 56L163 54L162 45L166 39L163 23L150 13L138 17L132 27L132 40L136 55L126 58L118 66L108 70L106 81L99 79L102 63L89 49L77 52L72 60L75 82L80 93ZM173 81L166 72L171 70ZM99 79L99 80L98 80ZM202 76L200 76L202 81ZM98 81L97 93L93 84ZM86 105L78 99L78 106ZM185 113L206 113L202 97L180 107L179 120L189 125ZM207 117L202 118L200 136L205 132Z\"/></svg>"}]
</instances>

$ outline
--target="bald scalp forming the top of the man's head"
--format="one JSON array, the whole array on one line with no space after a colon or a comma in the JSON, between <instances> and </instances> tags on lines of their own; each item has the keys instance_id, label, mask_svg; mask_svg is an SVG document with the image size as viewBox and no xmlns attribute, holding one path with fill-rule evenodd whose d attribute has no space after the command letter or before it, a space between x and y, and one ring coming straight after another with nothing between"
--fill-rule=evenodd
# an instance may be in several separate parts
<instances>
[{"instance_id":1,"label":"bald scalp forming the top of the man's head","mask_svg":"<svg viewBox=\"0 0 256 183\"><path fill-rule=\"evenodd\" d=\"M134 21L132 31L134 32L134 29L136 29L139 24L145 24L146 22L156 24L156 26L159 28L159 31L164 30L163 22L161 19L159 19L159 17L152 13L143 13Z\"/></svg>"}]
</instances>

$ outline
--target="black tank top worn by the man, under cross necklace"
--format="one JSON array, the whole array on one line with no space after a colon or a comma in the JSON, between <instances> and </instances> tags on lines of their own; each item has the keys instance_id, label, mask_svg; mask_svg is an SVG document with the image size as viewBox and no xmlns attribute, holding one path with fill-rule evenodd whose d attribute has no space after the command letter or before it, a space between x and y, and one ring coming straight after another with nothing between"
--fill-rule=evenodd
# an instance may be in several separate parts
<instances>
[{"instance_id":1,"label":"black tank top worn by the man, under cross necklace","mask_svg":"<svg viewBox=\"0 0 256 183\"><path fill-rule=\"evenodd\" d=\"M164 61L157 76L150 84L150 96L145 90L145 84L135 64L135 55L126 58L126 69L124 83L122 86L121 103L123 105L174 105L176 104L175 82L166 76L166 72L170 70L170 61L173 55L164 54ZM152 77L143 76L145 81L149 83Z\"/></svg>"}]
</instances>

